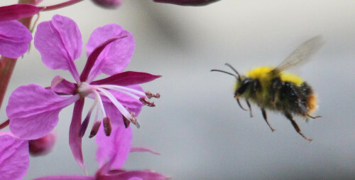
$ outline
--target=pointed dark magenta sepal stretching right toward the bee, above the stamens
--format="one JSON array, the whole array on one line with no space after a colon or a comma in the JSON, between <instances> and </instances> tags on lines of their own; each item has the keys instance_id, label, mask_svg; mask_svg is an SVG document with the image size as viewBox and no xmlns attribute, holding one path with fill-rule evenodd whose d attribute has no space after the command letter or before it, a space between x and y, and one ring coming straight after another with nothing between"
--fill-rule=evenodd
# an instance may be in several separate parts
<instances>
[{"instance_id":1,"label":"pointed dark magenta sepal stretching right toward the bee, above the stamens","mask_svg":"<svg viewBox=\"0 0 355 180\"><path fill-rule=\"evenodd\" d=\"M95 80L91 85L138 85L142 83L148 83L156 78L160 78L161 75L152 75L149 73L141 73L135 71L126 71L124 73L117 73L111 75L109 78L102 80Z\"/></svg>"}]
</instances>

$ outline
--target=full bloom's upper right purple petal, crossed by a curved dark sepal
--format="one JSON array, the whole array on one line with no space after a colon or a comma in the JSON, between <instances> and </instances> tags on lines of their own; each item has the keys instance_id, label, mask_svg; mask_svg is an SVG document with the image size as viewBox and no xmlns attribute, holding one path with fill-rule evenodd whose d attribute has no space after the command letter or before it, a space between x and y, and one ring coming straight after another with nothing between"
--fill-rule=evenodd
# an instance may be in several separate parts
<instances>
[{"instance_id":1,"label":"full bloom's upper right purple petal, crossed by a curved dark sepal","mask_svg":"<svg viewBox=\"0 0 355 180\"><path fill-rule=\"evenodd\" d=\"M94 48L99 46L99 44L107 41L109 38L116 36L129 35L126 38L122 38L119 41L115 41L111 46L107 47L102 53L95 67L92 70L92 75L96 77L100 73L105 73L107 75L114 75L116 73L121 73L124 68L129 64L133 51L135 48L134 38L129 31L125 31L121 26L117 24L108 24L96 28L87 43L87 55L94 51Z\"/></svg>"}]
</instances>

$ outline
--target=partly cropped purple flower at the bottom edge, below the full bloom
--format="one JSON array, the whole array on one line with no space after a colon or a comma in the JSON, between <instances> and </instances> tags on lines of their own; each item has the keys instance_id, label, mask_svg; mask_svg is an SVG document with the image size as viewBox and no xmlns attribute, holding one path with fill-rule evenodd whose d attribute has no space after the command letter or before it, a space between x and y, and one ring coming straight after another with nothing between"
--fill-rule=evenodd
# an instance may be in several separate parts
<instances>
[{"instance_id":1,"label":"partly cropped purple flower at the bottom edge, below the full bloom","mask_svg":"<svg viewBox=\"0 0 355 180\"><path fill-rule=\"evenodd\" d=\"M97 150L97 161L99 162L99 170L95 176L46 176L35 180L164 180L170 177L158 174L148 170L126 171L121 169L126 162L129 152L145 151L152 152L150 149L133 148L132 129L121 126L113 126L111 136L107 137L103 131L99 131L96 142L99 145ZM155 153L155 152L153 152ZM156 153L155 153L156 154Z\"/></svg>"}]
</instances>

